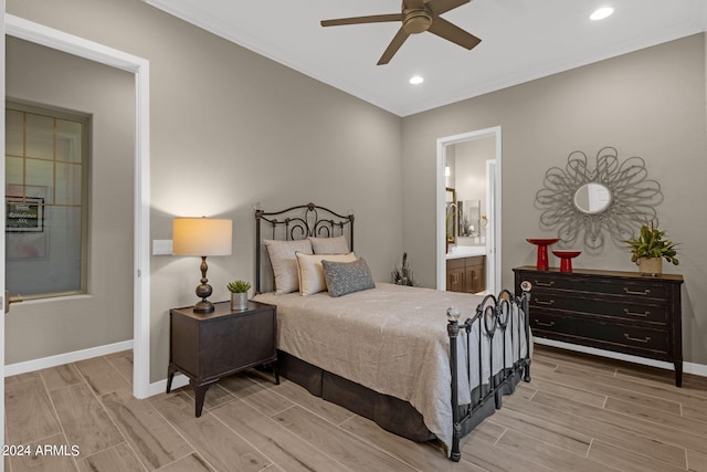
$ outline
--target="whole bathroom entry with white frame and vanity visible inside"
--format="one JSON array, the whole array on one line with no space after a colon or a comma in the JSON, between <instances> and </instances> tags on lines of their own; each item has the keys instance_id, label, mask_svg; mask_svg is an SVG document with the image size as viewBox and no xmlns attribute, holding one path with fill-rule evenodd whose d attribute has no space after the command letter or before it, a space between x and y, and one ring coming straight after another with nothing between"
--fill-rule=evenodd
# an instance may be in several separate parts
<instances>
[{"instance_id":1,"label":"whole bathroom entry with white frame and vanity visible inside","mask_svg":"<svg viewBox=\"0 0 707 472\"><path fill-rule=\"evenodd\" d=\"M500 286L499 162L499 127L437 139L437 186L444 190L437 197L439 290L476 292L481 287L496 293ZM453 204L446 201L449 189L455 196ZM479 260L484 262L482 280L460 284L461 273L469 276L471 272L458 266L473 264L478 277Z\"/></svg>"}]
</instances>

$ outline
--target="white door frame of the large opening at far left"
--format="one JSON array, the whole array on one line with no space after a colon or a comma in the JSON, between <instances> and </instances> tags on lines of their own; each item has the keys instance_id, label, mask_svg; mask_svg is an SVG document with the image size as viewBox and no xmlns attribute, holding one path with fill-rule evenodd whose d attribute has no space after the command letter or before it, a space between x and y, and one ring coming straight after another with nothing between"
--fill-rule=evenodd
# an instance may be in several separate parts
<instances>
[{"instance_id":1,"label":"white door frame of the large opening at far left","mask_svg":"<svg viewBox=\"0 0 707 472\"><path fill-rule=\"evenodd\" d=\"M149 61L8 13L4 13L3 41L6 34L135 75L133 395L136 398L147 398L150 380ZM4 78L4 61L2 72ZM2 107L4 117L4 101ZM1 133L4 147L4 125ZM4 169L4 154L2 162ZM4 186L2 193L4 198ZM4 333L2 339L4 340ZM4 378L4 371L1 374Z\"/></svg>"}]
</instances>

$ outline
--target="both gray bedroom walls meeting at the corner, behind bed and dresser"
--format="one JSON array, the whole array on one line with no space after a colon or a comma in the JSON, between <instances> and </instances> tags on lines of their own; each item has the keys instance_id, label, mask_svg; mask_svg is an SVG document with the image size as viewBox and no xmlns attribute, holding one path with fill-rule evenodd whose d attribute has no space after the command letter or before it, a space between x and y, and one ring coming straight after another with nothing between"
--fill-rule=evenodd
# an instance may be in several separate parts
<instances>
[{"instance_id":1,"label":"both gray bedroom walls meeting at the corner, behind bed and dresser","mask_svg":"<svg viewBox=\"0 0 707 472\"><path fill-rule=\"evenodd\" d=\"M213 298L252 279L257 201L352 208L357 252L378 281L404 250L434 286L436 139L500 125L504 285L534 262L524 239L540 232L532 200L548 167L606 145L642 156L666 197L661 224L682 242L683 263L667 270L686 277L686 359L707 364L707 218L694 203L707 192L704 35L400 118L138 0L8 0L7 10L150 61L151 238L169 239L173 216L233 218L233 255L210 260ZM168 311L193 302L197 264L151 260L152 381L166 374ZM611 244L574 264L635 269Z\"/></svg>"}]
</instances>

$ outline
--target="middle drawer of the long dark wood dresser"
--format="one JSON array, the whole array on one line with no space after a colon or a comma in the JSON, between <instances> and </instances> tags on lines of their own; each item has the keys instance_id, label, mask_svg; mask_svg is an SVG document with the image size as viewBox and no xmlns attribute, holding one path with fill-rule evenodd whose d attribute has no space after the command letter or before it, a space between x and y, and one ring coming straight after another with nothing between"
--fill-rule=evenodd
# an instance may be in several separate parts
<instances>
[{"instance_id":1,"label":"middle drawer of the long dark wood dresser","mask_svg":"<svg viewBox=\"0 0 707 472\"><path fill-rule=\"evenodd\" d=\"M665 303L651 303L651 301L635 301L632 297L601 295L594 296L570 294L567 292L550 292L539 290L530 297L531 308L560 310L574 313L585 313L599 316L619 318L618 321L648 323L659 326L667 325L669 321L669 306Z\"/></svg>"}]
</instances>

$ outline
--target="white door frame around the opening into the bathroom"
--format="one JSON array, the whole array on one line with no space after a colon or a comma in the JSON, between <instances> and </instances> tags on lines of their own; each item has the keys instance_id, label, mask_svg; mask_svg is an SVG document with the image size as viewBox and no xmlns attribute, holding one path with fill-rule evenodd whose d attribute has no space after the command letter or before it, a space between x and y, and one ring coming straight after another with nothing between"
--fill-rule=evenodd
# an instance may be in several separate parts
<instances>
[{"instance_id":1,"label":"white door frame around the opening into the bathroom","mask_svg":"<svg viewBox=\"0 0 707 472\"><path fill-rule=\"evenodd\" d=\"M500 216L502 216L502 135L500 126L494 126L475 132L462 133L458 135L437 138L437 162L436 162L436 279L437 290L446 290L446 234L445 234L445 172L446 147L455 144L465 143L475 139L484 139L493 137L495 139L495 172L494 172L494 214L489 216L488 238L486 244L486 270L488 293L498 293L500 290ZM488 167L488 166L487 166ZM489 204L489 203L487 203Z\"/></svg>"}]
</instances>

